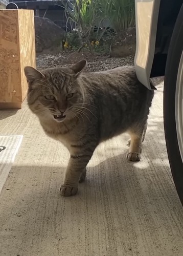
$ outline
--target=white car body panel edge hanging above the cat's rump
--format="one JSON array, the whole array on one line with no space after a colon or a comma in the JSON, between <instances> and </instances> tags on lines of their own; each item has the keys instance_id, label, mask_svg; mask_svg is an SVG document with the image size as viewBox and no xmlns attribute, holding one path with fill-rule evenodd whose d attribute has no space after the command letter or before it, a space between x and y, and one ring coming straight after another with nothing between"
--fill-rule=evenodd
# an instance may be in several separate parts
<instances>
[{"instance_id":1,"label":"white car body panel edge hanging above the cat's rump","mask_svg":"<svg viewBox=\"0 0 183 256\"><path fill-rule=\"evenodd\" d=\"M159 5L161 0L135 0L136 52L134 66L139 81L149 90L155 52Z\"/></svg>"}]
</instances>

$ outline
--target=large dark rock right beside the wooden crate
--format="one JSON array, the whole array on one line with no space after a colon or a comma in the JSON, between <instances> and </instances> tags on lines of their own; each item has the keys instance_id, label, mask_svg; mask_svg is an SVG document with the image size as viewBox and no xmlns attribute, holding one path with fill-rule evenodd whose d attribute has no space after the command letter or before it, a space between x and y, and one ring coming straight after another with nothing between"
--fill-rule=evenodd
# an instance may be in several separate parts
<instances>
[{"instance_id":1,"label":"large dark rock right beside the wooden crate","mask_svg":"<svg viewBox=\"0 0 183 256\"><path fill-rule=\"evenodd\" d=\"M61 46L65 31L48 18L34 17L36 52Z\"/></svg>"}]
</instances>

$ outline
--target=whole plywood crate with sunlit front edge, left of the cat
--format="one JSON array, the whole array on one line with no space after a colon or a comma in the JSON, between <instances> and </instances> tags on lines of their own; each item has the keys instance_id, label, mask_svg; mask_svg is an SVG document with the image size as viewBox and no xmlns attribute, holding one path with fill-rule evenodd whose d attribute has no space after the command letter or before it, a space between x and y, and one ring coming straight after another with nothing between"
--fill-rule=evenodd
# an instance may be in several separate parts
<instances>
[{"instance_id":1,"label":"whole plywood crate with sunlit front edge, left of the cat","mask_svg":"<svg viewBox=\"0 0 183 256\"><path fill-rule=\"evenodd\" d=\"M28 84L24 67L35 67L33 10L0 10L0 109L20 109Z\"/></svg>"}]
</instances>

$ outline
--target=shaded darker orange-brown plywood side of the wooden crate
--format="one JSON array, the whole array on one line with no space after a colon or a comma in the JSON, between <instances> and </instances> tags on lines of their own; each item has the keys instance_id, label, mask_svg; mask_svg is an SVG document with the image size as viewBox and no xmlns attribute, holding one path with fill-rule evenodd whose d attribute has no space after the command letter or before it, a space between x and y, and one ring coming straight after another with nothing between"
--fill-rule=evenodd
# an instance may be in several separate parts
<instances>
[{"instance_id":1,"label":"shaded darker orange-brown plywood side of the wooden crate","mask_svg":"<svg viewBox=\"0 0 183 256\"><path fill-rule=\"evenodd\" d=\"M0 10L0 102L21 101L17 14Z\"/></svg>"}]
</instances>

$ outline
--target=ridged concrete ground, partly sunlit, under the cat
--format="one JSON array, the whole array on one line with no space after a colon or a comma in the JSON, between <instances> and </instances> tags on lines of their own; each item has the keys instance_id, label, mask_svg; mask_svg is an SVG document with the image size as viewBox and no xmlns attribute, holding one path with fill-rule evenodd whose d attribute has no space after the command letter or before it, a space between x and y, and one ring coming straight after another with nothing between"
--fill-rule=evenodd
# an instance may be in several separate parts
<instances>
[{"instance_id":1,"label":"ridged concrete ground, partly sunlit, under the cat","mask_svg":"<svg viewBox=\"0 0 183 256\"><path fill-rule=\"evenodd\" d=\"M1 135L24 135L0 195L0 255L181 256L183 210L172 180L157 87L142 160L128 135L101 144L78 195L63 198L68 152L44 135L26 102L1 111Z\"/></svg>"}]
</instances>

